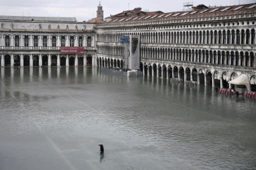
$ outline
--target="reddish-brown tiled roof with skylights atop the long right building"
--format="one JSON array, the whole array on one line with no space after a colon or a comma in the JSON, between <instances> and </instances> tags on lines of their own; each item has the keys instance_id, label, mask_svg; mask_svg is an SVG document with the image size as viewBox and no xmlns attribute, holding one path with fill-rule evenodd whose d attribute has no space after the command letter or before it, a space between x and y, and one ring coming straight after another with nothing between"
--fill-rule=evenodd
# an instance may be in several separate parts
<instances>
[{"instance_id":1,"label":"reddish-brown tiled roof with skylights atop the long right building","mask_svg":"<svg viewBox=\"0 0 256 170\"><path fill-rule=\"evenodd\" d=\"M137 9L135 8L136 12ZM133 10L135 10L133 9ZM207 7L203 4L193 6L191 11L175 11L163 13L161 11L151 11L144 12L142 15L135 15L133 10L128 12L132 13L131 15L125 15L127 11L112 15L108 17L107 24L111 23L123 23L123 22L136 22L138 20L161 20L161 19L172 19L172 18L190 18L198 16L216 16L216 15L227 15L227 14L237 14L237 13L251 13L256 12L256 3L249 4L239 4L232 6L216 6L216 7ZM143 17L144 16L144 17ZM142 18L141 18L142 17ZM129 18L129 19L128 19ZM141 18L141 19L140 19Z\"/></svg>"}]
</instances>

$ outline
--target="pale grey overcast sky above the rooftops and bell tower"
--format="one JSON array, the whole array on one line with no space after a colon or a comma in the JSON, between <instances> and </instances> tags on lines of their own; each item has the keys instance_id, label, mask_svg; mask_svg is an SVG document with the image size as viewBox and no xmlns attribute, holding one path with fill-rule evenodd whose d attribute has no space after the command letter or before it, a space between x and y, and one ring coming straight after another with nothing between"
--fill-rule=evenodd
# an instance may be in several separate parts
<instances>
[{"instance_id":1,"label":"pale grey overcast sky above the rooftops and bell tower","mask_svg":"<svg viewBox=\"0 0 256 170\"><path fill-rule=\"evenodd\" d=\"M123 10L141 7L142 10L161 10L171 12L182 10L183 2L192 1L194 5L233 5L253 3L256 0L100 0L104 17ZM18 16L62 16L76 17L77 21L96 17L99 0L0 0L0 15ZM128 5L129 3L129 5Z\"/></svg>"}]
</instances>

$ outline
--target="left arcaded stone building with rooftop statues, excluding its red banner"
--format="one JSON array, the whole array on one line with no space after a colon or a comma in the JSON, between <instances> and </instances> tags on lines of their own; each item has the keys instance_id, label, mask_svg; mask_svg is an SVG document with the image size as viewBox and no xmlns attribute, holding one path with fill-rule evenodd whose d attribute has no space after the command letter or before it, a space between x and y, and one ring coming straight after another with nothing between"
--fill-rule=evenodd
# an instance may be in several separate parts
<instances>
[{"instance_id":1,"label":"left arcaded stone building with rooftop statues, excluding its red banner","mask_svg":"<svg viewBox=\"0 0 256 170\"><path fill-rule=\"evenodd\" d=\"M94 24L74 17L0 16L0 65L85 66L94 64ZM61 53L83 47L83 53Z\"/></svg>"}]
</instances>

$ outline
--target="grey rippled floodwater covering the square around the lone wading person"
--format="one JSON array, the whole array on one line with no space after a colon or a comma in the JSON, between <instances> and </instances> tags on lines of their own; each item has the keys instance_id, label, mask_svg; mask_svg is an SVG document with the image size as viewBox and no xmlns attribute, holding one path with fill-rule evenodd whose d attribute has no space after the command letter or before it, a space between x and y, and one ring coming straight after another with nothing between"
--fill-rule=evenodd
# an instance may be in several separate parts
<instances>
[{"instance_id":1,"label":"grey rippled floodwater covering the square around the lone wading person","mask_svg":"<svg viewBox=\"0 0 256 170\"><path fill-rule=\"evenodd\" d=\"M255 108L96 67L0 68L0 170L256 169Z\"/></svg>"}]
</instances>

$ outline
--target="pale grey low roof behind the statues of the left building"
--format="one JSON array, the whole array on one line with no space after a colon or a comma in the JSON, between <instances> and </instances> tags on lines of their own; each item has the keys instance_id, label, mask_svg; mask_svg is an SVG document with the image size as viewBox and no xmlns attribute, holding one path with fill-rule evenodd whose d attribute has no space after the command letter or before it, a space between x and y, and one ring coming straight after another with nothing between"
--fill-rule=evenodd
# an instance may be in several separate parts
<instances>
[{"instance_id":1,"label":"pale grey low roof behind the statues of the left building","mask_svg":"<svg viewBox=\"0 0 256 170\"><path fill-rule=\"evenodd\" d=\"M0 20L34 20L34 21L76 22L75 17L8 16L8 15L0 15Z\"/></svg>"}]
</instances>

